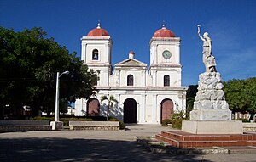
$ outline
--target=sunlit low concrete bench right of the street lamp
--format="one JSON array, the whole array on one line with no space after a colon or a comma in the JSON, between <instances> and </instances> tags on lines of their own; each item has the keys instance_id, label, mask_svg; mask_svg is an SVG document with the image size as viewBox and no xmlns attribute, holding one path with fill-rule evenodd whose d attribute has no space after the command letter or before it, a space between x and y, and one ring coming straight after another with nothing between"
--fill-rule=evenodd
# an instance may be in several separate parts
<instances>
[{"instance_id":1,"label":"sunlit low concrete bench right of the street lamp","mask_svg":"<svg viewBox=\"0 0 256 162\"><path fill-rule=\"evenodd\" d=\"M119 121L69 121L70 130L119 131Z\"/></svg>"}]
</instances>

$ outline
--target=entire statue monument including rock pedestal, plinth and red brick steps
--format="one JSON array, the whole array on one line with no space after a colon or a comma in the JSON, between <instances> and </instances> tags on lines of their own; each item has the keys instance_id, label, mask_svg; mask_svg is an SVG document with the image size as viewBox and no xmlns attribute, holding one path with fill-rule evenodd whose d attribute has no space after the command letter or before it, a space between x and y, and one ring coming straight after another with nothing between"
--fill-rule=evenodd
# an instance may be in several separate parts
<instances>
[{"instance_id":1,"label":"entire statue monument including rock pedestal, plinth and red brick steps","mask_svg":"<svg viewBox=\"0 0 256 162\"><path fill-rule=\"evenodd\" d=\"M231 119L221 75L216 70L216 61L212 55L212 40L207 32L201 36L200 25L198 36L203 42L202 60L206 71L199 75L198 92L190 120L183 120L181 131L162 131L155 137L177 148L256 146L256 135L243 132L241 120Z\"/></svg>"}]
</instances>

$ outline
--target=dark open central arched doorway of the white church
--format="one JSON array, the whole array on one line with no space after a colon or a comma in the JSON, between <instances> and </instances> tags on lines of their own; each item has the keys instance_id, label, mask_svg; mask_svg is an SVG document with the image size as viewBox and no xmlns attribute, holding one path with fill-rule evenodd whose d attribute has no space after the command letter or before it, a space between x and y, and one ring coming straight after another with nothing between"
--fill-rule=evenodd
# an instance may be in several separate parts
<instances>
[{"instance_id":1,"label":"dark open central arched doorway of the white church","mask_svg":"<svg viewBox=\"0 0 256 162\"><path fill-rule=\"evenodd\" d=\"M137 102L133 98L125 99L124 123L137 123Z\"/></svg>"}]
</instances>

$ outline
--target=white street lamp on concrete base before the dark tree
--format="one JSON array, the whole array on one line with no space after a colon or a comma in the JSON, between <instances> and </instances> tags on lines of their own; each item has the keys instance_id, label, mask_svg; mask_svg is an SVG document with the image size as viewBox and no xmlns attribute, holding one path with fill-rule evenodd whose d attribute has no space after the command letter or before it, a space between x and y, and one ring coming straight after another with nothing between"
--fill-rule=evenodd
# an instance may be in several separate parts
<instances>
[{"instance_id":1,"label":"white street lamp on concrete base before the dark tree","mask_svg":"<svg viewBox=\"0 0 256 162\"><path fill-rule=\"evenodd\" d=\"M68 75L69 71L64 71L61 75ZM55 98L55 121L51 122L53 130L62 129L63 123L59 121L59 83L61 78L60 72L57 72L56 77L56 98Z\"/></svg>"}]
</instances>

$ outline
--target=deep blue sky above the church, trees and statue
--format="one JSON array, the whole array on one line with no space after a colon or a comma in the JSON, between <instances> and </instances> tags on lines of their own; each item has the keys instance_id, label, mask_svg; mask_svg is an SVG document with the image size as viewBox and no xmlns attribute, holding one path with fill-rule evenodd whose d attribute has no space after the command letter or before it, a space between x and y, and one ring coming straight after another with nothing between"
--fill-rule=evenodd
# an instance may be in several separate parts
<instances>
[{"instance_id":1,"label":"deep blue sky above the church, trees and statue","mask_svg":"<svg viewBox=\"0 0 256 162\"><path fill-rule=\"evenodd\" d=\"M49 37L80 57L80 38L98 20L113 39L112 64L128 58L149 64L149 41L166 28L181 37L183 86L197 84L204 72L202 42L209 32L212 54L224 81L256 76L256 1L254 0L0 0L0 25L22 31L43 27Z\"/></svg>"}]
</instances>

